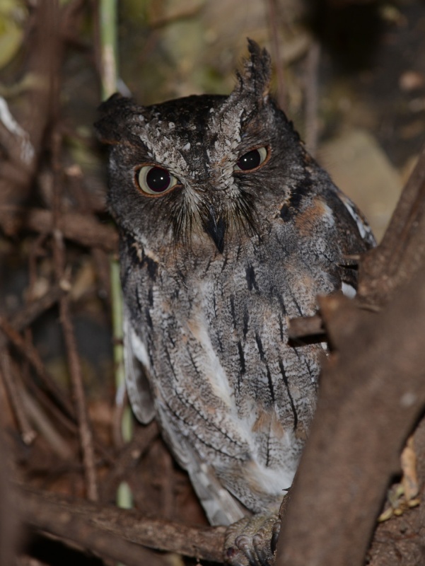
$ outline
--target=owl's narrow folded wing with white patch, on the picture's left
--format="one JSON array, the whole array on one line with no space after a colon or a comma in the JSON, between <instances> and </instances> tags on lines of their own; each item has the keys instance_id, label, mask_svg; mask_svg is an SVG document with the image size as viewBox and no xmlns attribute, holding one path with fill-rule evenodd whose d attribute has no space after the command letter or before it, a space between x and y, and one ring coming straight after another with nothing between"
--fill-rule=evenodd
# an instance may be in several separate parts
<instances>
[{"instance_id":1,"label":"owl's narrow folded wing with white patch, on the picture's left","mask_svg":"<svg viewBox=\"0 0 425 566\"><path fill-rule=\"evenodd\" d=\"M124 366L127 393L136 419L144 424L155 416L153 398L146 370L134 353L134 330L124 306Z\"/></svg>"}]
</instances>

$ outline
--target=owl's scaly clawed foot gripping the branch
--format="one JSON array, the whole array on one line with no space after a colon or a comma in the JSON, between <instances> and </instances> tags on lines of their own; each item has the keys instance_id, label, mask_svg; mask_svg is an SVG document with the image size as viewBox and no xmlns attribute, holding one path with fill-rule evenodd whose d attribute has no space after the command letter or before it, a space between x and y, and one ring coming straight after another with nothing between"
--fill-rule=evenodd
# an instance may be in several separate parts
<instances>
[{"instance_id":1,"label":"owl's scaly clawed foot gripping the branch","mask_svg":"<svg viewBox=\"0 0 425 566\"><path fill-rule=\"evenodd\" d=\"M226 531L225 563L231 566L272 566L280 531L277 513L240 519Z\"/></svg>"}]
</instances>

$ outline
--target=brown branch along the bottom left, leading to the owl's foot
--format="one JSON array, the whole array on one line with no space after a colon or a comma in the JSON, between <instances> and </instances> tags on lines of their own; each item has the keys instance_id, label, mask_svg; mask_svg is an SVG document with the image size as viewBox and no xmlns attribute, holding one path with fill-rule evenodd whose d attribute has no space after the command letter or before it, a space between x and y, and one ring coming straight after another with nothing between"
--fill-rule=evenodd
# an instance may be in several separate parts
<instances>
[{"instance_id":1,"label":"brown branch along the bottom left, leading to the owl's foot","mask_svg":"<svg viewBox=\"0 0 425 566\"><path fill-rule=\"evenodd\" d=\"M52 493L21 488L19 507L23 521L37 531L45 531L83 548L120 560L128 566L154 564L144 560L143 548L137 548L138 562L130 562L128 548L118 550L117 543L135 543L201 560L221 562L225 527L191 527L171 521L148 519L115 507L102 507L86 501L66 500ZM107 541L110 540L110 544ZM101 545L101 548L98 546ZM137 555L137 553L136 553Z\"/></svg>"}]
</instances>

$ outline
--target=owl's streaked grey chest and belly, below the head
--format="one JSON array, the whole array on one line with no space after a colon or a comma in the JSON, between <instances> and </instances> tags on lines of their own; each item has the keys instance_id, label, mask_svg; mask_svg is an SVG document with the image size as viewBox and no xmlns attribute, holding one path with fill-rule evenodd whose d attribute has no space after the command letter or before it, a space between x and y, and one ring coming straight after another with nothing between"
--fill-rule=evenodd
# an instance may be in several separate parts
<instances>
[{"instance_id":1,"label":"owl's streaked grey chest and belly, below the head","mask_svg":"<svg viewBox=\"0 0 425 566\"><path fill-rule=\"evenodd\" d=\"M289 344L288 320L332 289L277 256L253 249L171 269L126 255L124 296L160 419L220 466L249 457L291 468L315 409L323 351Z\"/></svg>"}]
</instances>

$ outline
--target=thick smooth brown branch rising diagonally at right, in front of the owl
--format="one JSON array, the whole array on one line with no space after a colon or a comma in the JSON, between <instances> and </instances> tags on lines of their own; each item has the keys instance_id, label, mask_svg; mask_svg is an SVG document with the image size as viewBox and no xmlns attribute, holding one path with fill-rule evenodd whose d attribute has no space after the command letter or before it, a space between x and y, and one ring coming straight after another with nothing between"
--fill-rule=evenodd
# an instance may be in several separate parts
<instances>
[{"instance_id":1,"label":"thick smooth brown branch rising diagonally at right, in front of the owl","mask_svg":"<svg viewBox=\"0 0 425 566\"><path fill-rule=\"evenodd\" d=\"M423 268L379 314L344 297L320 301L338 355L322 374L276 564L363 564L402 444L425 406L424 289Z\"/></svg>"}]
</instances>

